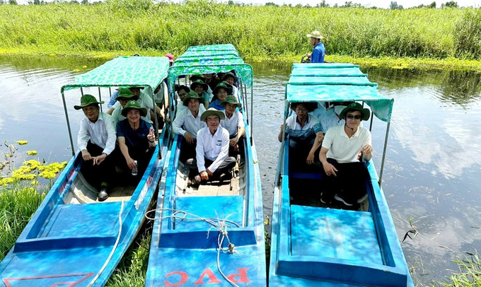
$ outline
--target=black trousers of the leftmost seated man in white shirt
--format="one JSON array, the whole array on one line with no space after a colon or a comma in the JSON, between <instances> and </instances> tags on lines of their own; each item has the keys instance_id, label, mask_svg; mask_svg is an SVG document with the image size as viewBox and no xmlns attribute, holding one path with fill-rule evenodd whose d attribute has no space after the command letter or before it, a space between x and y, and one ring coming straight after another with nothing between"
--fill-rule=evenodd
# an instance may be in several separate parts
<instances>
[{"instance_id":1,"label":"black trousers of the leftmost seated man in white shirt","mask_svg":"<svg viewBox=\"0 0 481 287\"><path fill-rule=\"evenodd\" d=\"M87 151L91 156L100 156L103 148L88 141ZM115 176L115 154L112 151L100 165L93 165L93 160L83 163L80 171L90 185L99 189L101 184L108 185L112 181Z\"/></svg>"}]
</instances>

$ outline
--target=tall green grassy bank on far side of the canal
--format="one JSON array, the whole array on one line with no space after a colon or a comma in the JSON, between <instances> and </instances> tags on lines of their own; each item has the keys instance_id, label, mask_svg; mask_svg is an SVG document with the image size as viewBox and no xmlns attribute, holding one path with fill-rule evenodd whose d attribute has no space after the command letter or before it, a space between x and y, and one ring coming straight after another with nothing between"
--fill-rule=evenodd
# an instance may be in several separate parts
<instances>
[{"instance_id":1,"label":"tall green grassy bank on far side of the canal","mask_svg":"<svg viewBox=\"0 0 481 287\"><path fill-rule=\"evenodd\" d=\"M207 0L0 5L0 53L178 55L192 45L230 42L245 59L299 61L311 49L305 35L315 29L335 55L330 61L480 66L465 60L481 59L481 9L239 7Z\"/></svg>"}]
</instances>

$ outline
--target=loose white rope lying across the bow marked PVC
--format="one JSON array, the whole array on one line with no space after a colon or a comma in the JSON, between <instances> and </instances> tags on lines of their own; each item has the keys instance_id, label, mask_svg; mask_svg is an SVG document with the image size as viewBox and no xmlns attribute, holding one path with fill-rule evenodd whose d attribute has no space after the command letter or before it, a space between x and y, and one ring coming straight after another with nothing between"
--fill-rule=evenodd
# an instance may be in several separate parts
<instances>
[{"instance_id":1,"label":"loose white rope lying across the bow marked PVC","mask_svg":"<svg viewBox=\"0 0 481 287\"><path fill-rule=\"evenodd\" d=\"M156 212L158 210L159 211L173 211L173 214L170 215L170 216L161 216L160 218L149 217L148 214L150 212ZM188 218L187 216L192 216L192 218ZM226 281L228 281L228 283L231 283L232 286L238 287L238 285L236 283L233 283L233 281L228 279L227 276L224 274L224 272L222 272L221 263L220 263L220 254L221 254L221 251L222 252L228 251L231 254L233 254L235 252L234 247L236 245L231 243L231 240L228 238L228 235L227 235L227 228L233 227L233 226L227 225L226 223L231 223L232 225L235 225L235 227L240 227L240 225L238 225L234 221L228 221L227 219L220 220L219 218L202 218L202 217L197 216L193 213L188 213L186 211L180 211L180 210L177 210L177 209L164 209L164 208L162 208L162 209L152 209L152 210L147 211L145 213L145 217L149 220L152 220L152 221L162 220L162 219L166 219L166 218L174 218L174 219L177 218L177 219L180 219L181 221L204 221L206 223L209 223L211 225L211 227L216 228L219 231L219 235L217 236L217 245L218 245L218 248L217 248L217 269L219 270L219 273L222 275L222 277L224 277L224 279L226 279ZM210 233L210 230L207 230L207 238L209 238L209 233ZM225 238L227 238L227 242L228 242L228 245L227 245L226 249L222 248L222 244L224 243Z\"/></svg>"}]
</instances>

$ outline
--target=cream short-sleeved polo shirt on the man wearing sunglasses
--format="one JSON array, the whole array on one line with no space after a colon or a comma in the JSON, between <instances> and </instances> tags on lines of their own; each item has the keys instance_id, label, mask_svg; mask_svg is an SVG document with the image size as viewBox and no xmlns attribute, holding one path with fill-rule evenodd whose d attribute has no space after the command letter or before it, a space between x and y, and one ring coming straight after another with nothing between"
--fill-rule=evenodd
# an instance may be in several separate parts
<instances>
[{"instance_id":1,"label":"cream short-sleeved polo shirt on the man wearing sunglasses","mask_svg":"<svg viewBox=\"0 0 481 287\"><path fill-rule=\"evenodd\" d=\"M323 148L328 148L328 158L334 158L338 163L354 163L361 148L371 145L371 132L364 127L358 127L349 138L344 126L331 127L325 133Z\"/></svg>"}]
</instances>

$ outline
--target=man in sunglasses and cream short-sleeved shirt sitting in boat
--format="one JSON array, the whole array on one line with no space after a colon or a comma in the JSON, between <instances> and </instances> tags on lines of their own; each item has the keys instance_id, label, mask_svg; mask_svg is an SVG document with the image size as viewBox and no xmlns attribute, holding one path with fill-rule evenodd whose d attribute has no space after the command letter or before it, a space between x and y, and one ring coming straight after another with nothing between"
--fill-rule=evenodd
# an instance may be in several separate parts
<instances>
[{"instance_id":1,"label":"man in sunglasses and cream short-sleeved shirt sitting in boat","mask_svg":"<svg viewBox=\"0 0 481 287\"><path fill-rule=\"evenodd\" d=\"M331 204L335 199L348 209L366 210L366 165L359 158L371 160L371 132L361 127L369 119L369 109L352 102L342 110L342 126L331 127L325 134L319 159L323 164L323 190L320 201Z\"/></svg>"}]
</instances>

